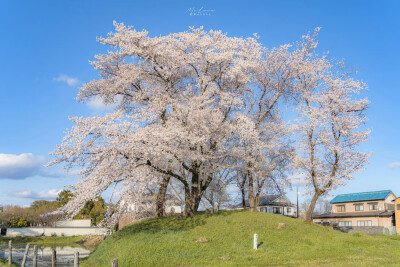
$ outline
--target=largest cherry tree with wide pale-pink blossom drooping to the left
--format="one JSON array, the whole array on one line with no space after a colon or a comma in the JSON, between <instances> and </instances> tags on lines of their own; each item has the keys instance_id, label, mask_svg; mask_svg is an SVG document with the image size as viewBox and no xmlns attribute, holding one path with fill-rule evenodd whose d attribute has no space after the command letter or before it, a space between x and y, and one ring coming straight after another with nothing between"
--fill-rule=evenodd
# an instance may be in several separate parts
<instances>
[{"instance_id":1,"label":"largest cherry tree with wide pale-pink blossom drooping to the left","mask_svg":"<svg viewBox=\"0 0 400 267\"><path fill-rule=\"evenodd\" d=\"M149 37L123 24L99 41L114 49L96 56L101 78L83 86L79 100L121 104L104 117L73 118L76 126L53 153L53 164L84 169L65 210L76 213L115 184L122 184L119 196L140 196L167 176L182 183L184 214L194 214L215 173L226 168L232 136L249 128L240 112L262 46L202 28Z\"/></svg>"}]
</instances>

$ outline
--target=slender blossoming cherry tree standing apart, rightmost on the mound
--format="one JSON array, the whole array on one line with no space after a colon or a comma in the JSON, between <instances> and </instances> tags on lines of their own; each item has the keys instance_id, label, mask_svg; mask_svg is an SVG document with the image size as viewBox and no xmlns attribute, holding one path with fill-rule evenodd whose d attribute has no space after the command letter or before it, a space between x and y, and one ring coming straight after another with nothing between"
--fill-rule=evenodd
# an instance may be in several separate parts
<instances>
[{"instance_id":1,"label":"slender blossoming cherry tree standing apart, rightmost on the mound","mask_svg":"<svg viewBox=\"0 0 400 267\"><path fill-rule=\"evenodd\" d=\"M343 64L316 56L318 30L300 44L301 60L296 63L299 139L295 166L305 173L313 195L306 216L308 222L318 198L345 185L369 157L368 153L358 151L370 133L363 128L368 100L358 98L366 85L343 71Z\"/></svg>"}]
</instances>

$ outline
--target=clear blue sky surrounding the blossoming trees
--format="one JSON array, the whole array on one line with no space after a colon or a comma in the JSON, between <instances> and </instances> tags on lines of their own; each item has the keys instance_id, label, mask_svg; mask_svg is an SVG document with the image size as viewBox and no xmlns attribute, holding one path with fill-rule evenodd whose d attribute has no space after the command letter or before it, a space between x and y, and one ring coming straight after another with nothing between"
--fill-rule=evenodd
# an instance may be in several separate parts
<instances>
[{"instance_id":1,"label":"clear blue sky surrounding the blossoming trees","mask_svg":"<svg viewBox=\"0 0 400 267\"><path fill-rule=\"evenodd\" d=\"M194 16L190 8L211 11ZM332 194L391 189L400 195L399 12L399 1L376 0L1 1L0 204L52 199L78 179L42 165L72 126L68 116L103 112L75 97L82 83L98 77L88 61L105 51L96 37L112 31L113 20L151 36L201 25L230 36L258 33L267 47L322 27L320 51L358 70L371 101L372 134L362 147L373 152L370 164Z\"/></svg>"}]
</instances>

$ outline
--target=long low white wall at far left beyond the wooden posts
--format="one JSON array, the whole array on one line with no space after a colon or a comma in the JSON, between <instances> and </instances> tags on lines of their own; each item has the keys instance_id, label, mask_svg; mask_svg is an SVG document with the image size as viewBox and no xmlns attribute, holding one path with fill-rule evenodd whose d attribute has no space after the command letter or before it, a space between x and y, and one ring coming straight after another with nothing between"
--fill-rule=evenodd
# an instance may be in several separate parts
<instances>
[{"instance_id":1,"label":"long low white wall at far left beyond the wooden posts","mask_svg":"<svg viewBox=\"0 0 400 267\"><path fill-rule=\"evenodd\" d=\"M26 227L7 228L6 236L75 236L75 235L105 235L106 228L100 227Z\"/></svg>"}]
</instances>

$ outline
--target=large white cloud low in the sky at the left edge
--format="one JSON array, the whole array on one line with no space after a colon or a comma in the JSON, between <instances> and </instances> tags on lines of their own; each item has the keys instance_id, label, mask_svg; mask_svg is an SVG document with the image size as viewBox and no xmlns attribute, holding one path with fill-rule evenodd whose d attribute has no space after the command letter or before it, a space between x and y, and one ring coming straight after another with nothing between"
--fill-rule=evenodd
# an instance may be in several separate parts
<instances>
[{"instance_id":1,"label":"large white cloud low in the sky at the left edge","mask_svg":"<svg viewBox=\"0 0 400 267\"><path fill-rule=\"evenodd\" d=\"M25 179L41 173L46 158L32 153L1 154L0 179Z\"/></svg>"}]
</instances>

